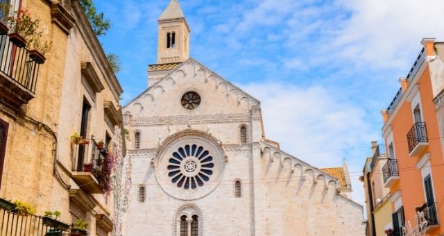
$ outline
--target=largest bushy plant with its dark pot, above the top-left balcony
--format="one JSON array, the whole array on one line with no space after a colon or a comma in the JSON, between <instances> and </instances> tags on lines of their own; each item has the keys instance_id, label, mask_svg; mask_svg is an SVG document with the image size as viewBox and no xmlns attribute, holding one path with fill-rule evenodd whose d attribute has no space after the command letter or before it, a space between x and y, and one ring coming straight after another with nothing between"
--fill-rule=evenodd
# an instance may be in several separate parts
<instances>
[{"instance_id":1,"label":"largest bushy plant with its dark pot, above the top-left balcony","mask_svg":"<svg viewBox=\"0 0 444 236\"><path fill-rule=\"evenodd\" d=\"M15 16L8 17L10 34L9 40L17 47L25 47L26 44L33 40L32 36L41 36L42 33L37 33L39 24L38 19L33 19L26 10L19 10L15 12Z\"/></svg>"}]
</instances>

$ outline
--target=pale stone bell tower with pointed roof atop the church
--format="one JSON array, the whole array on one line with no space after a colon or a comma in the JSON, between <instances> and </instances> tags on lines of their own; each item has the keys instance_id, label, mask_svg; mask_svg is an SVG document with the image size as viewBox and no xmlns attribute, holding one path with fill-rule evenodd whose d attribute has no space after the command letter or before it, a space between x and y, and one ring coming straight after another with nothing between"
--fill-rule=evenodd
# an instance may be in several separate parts
<instances>
[{"instance_id":1,"label":"pale stone bell tower with pointed roof atop the church","mask_svg":"<svg viewBox=\"0 0 444 236\"><path fill-rule=\"evenodd\" d=\"M157 22L157 64L148 66L148 87L189 58L190 31L178 0L171 0Z\"/></svg>"}]
</instances>

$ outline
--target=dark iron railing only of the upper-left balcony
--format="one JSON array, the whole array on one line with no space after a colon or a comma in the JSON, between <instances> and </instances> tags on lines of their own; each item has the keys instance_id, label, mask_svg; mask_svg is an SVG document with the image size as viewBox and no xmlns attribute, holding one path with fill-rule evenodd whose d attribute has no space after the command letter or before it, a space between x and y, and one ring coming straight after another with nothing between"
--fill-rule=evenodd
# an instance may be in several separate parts
<instances>
[{"instance_id":1,"label":"dark iron railing only of the upper-left balcony","mask_svg":"<svg viewBox=\"0 0 444 236\"><path fill-rule=\"evenodd\" d=\"M0 73L24 89L35 92L39 64L29 56L26 47L17 47L8 35L0 35Z\"/></svg>"}]
</instances>

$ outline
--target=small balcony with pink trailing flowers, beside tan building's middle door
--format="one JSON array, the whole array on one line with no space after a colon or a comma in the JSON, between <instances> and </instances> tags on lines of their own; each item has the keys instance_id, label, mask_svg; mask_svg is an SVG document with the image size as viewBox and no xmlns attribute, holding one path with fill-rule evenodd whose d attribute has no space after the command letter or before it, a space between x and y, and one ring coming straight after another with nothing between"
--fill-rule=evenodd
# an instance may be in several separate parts
<instances>
[{"instance_id":1,"label":"small balcony with pink trailing flowers, beside tan building's middle door","mask_svg":"<svg viewBox=\"0 0 444 236\"><path fill-rule=\"evenodd\" d=\"M103 194L100 180L102 177L103 160L107 155L106 149L100 148L95 140L91 140L90 145L92 146L92 155L89 162L83 162L80 163L81 165L77 165L83 166L83 169L76 169L73 171L71 178L76 182L78 187L87 194ZM79 160L77 160L77 162L78 161Z\"/></svg>"}]
</instances>

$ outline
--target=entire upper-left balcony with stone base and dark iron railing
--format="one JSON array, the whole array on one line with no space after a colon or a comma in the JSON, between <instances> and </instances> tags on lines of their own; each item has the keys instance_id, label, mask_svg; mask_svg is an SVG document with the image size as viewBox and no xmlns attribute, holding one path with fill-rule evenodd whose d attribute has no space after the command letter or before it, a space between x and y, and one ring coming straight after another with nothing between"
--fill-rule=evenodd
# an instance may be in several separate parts
<instances>
[{"instance_id":1,"label":"entire upper-left balcony with stone base and dark iron railing","mask_svg":"<svg viewBox=\"0 0 444 236\"><path fill-rule=\"evenodd\" d=\"M17 47L8 35L0 35L0 94L15 106L28 103L35 96L40 64L25 47Z\"/></svg>"}]
</instances>

